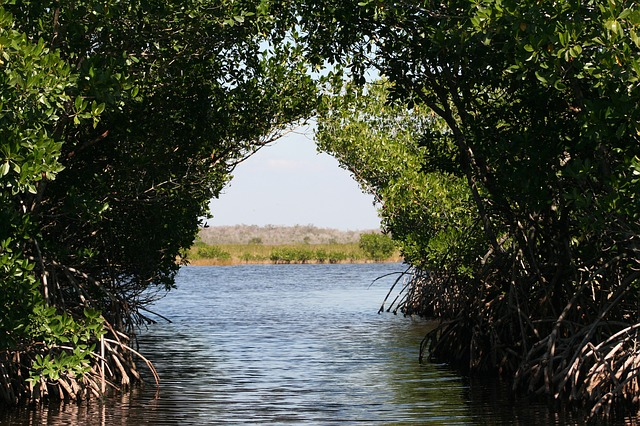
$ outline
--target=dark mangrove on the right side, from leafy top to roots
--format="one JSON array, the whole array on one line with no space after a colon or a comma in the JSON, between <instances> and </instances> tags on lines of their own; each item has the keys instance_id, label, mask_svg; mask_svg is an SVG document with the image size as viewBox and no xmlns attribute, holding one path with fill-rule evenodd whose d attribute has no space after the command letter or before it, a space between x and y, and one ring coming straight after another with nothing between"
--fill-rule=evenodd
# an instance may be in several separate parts
<instances>
[{"instance_id":1,"label":"dark mangrove on the right side, from leafy top to roots","mask_svg":"<svg viewBox=\"0 0 640 426\"><path fill-rule=\"evenodd\" d=\"M594 413L637 401L629 367L640 338L637 5L327 1L301 14L314 55L359 84L372 68L389 81L389 103L438 117L412 129L412 140L401 120L384 129L379 140L395 152L417 141L436 147L418 158L417 174L397 160L394 170L410 182L435 171L466 184L481 238L443 217L460 233L446 243L450 256L439 265L410 257L419 268L405 312L450 320L432 334L430 355L515 374L516 388L586 402ZM331 133L341 114L380 128L387 110L376 108L364 116L339 103L319 138L396 210L393 183L373 174L382 160L349 154L366 151L366 137L338 130L336 143ZM448 152L453 164L443 161ZM387 226L408 230L394 236L425 252L440 228L423 218L437 207L414 195L403 206L422 215Z\"/></svg>"}]
</instances>

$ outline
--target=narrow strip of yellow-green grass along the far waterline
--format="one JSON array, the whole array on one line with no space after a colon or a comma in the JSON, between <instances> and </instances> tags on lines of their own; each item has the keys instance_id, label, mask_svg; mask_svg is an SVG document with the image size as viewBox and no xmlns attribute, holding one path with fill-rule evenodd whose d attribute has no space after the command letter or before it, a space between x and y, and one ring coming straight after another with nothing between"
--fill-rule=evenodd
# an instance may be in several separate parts
<instances>
[{"instance_id":1,"label":"narrow strip of yellow-green grass along the far waterline","mask_svg":"<svg viewBox=\"0 0 640 426\"><path fill-rule=\"evenodd\" d=\"M358 243L347 244L217 244L197 242L188 252L189 264L238 265L250 263L367 263L400 262L395 251L384 259L373 259Z\"/></svg>"}]
</instances>

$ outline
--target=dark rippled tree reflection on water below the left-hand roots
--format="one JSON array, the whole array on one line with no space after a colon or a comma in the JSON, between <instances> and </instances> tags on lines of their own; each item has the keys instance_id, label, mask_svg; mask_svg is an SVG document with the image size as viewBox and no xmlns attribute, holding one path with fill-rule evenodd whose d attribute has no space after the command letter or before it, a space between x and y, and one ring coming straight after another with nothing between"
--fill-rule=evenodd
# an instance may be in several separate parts
<instances>
[{"instance_id":1,"label":"dark rippled tree reflection on water below the left-hand roots","mask_svg":"<svg viewBox=\"0 0 640 426\"><path fill-rule=\"evenodd\" d=\"M154 327L154 326L152 326ZM150 357L162 378L159 388L153 378L145 377L144 386L130 392L111 393L101 402L88 404L51 404L0 410L0 425L162 425L199 424L198 419L214 419L224 405L211 404L212 390L219 389L225 375L216 365L219 357L206 343L203 333L187 335L171 324L159 324L153 333L142 333L140 344L155 348ZM160 350L160 348L162 348ZM207 371L203 373L203 371ZM183 384L189 384L185 389Z\"/></svg>"}]
</instances>

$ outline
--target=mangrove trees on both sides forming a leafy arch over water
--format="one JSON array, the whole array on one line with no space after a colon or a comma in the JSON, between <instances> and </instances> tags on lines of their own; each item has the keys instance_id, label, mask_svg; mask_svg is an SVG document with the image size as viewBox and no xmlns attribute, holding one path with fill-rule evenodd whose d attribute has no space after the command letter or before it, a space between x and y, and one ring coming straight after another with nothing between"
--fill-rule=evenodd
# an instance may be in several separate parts
<instances>
[{"instance_id":1,"label":"mangrove trees on both sides forming a leafy arch over water","mask_svg":"<svg viewBox=\"0 0 640 426\"><path fill-rule=\"evenodd\" d=\"M400 308L446 320L432 358L637 404L634 2L7 1L0 22L0 367L32 383L3 399L97 392L99 341L127 384L122 336L208 200L319 106L415 266Z\"/></svg>"}]
</instances>

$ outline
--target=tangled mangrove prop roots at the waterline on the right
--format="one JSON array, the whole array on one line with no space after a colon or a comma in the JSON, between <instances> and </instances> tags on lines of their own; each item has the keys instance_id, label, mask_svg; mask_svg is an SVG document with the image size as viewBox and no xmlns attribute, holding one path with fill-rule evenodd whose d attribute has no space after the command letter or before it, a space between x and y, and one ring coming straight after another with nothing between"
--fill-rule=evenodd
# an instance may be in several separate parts
<instances>
[{"instance_id":1,"label":"tangled mangrove prop roots at the waterline on the right","mask_svg":"<svg viewBox=\"0 0 640 426\"><path fill-rule=\"evenodd\" d=\"M613 415L640 407L640 272L605 266L585 271L571 293L528 276L505 285L415 271L395 309L440 320L421 357L513 378L514 390L591 417Z\"/></svg>"}]
</instances>

